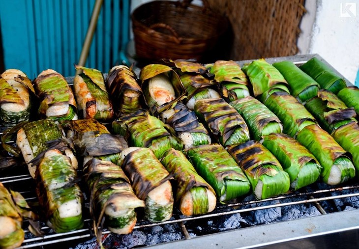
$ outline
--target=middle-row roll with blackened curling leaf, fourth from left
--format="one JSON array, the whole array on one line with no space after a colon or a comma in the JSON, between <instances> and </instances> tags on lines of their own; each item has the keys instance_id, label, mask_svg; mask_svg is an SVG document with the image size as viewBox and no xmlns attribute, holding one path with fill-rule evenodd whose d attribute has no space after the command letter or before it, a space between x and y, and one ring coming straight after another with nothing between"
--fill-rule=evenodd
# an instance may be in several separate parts
<instances>
[{"instance_id":1,"label":"middle-row roll with blackened curling leaf, fourth from left","mask_svg":"<svg viewBox=\"0 0 359 249\"><path fill-rule=\"evenodd\" d=\"M182 103L177 103L173 109L162 112L161 119L174 128L182 140L184 149L211 142L208 131L199 122L196 114Z\"/></svg>"}]
</instances>

